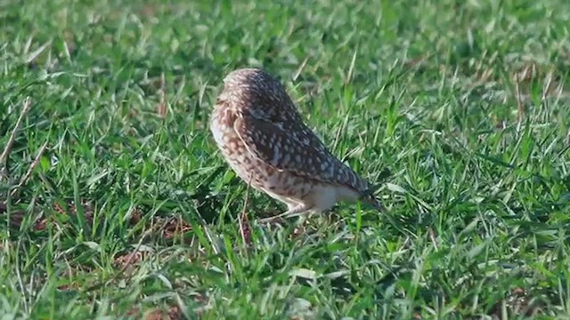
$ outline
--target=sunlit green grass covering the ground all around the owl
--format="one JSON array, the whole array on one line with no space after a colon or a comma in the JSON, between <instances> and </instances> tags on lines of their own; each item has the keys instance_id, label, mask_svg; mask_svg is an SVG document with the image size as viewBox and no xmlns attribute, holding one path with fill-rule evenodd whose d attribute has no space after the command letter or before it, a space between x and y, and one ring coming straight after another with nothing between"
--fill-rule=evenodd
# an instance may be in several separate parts
<instances>
[{"instance_id":1,"label":"sunlit green grass covering the ground all around the owl","mask_svg":"<svg viewBox=\"0 0 570 320\"><path fill-rule=\"evenodd\" d=\"M234 3L0 1L0 318L570 318L566 1ZM387 214L244 249L207 124L246 66Z\"/></svg>"}]
</instances>

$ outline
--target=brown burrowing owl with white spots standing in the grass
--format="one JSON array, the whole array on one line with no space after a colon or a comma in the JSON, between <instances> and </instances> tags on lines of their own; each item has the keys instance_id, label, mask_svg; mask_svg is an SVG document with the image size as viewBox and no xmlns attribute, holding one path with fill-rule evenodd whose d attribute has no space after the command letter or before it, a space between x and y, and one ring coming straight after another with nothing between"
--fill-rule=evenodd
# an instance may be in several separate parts
<instances>
[{"instance_id":1,"label":"brown burrowing owl with white spots standing in the grass","mask_svg":"<svg viewBox=\"0 0 570 320\"><path fill-rule=\"evenodd\" d=\"M324 212L358 199L382 208L368 182L330 153L284 86L264 70L242 68L225 76L210 130L242 180L287 204L279 216Z\"/></svg>"}]
</instances>

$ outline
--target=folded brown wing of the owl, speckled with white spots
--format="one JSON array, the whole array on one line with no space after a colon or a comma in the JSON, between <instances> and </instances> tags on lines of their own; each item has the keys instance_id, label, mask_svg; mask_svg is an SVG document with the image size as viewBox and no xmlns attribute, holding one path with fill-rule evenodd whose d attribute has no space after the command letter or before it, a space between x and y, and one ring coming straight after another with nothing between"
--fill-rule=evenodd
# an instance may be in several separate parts
<instances>
[{"instance_id":1,"label":"folded brown wing of the owl, speckled with white spots","mask_svg":"<svg viewBox=\"0 0 570 320\"><path fill-rule=\"evenodd\" d=\"M362 191L366 184L346 164L341 163L322 145L308 128L272 124L243 115L233 124L248 151L276 170L325 183L344 185ZM297 129L297 130L291 130Z\"/></svg>"}]
</instances>

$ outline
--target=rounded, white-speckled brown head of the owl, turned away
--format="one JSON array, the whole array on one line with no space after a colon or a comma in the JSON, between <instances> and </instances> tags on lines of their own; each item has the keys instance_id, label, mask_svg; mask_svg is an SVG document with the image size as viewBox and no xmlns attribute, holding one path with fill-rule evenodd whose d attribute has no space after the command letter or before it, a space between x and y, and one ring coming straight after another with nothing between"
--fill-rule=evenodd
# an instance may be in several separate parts
<instances>
[{"instance_id":1,"label":"rounded, white-speckled brown head of the owl, turned away","mask_svg":"<svg viewBox=\"0 0 570 320\"><path fill-rule=\"evenodd\" d=\"M260 68L241 68L224 77L219 100L241 114L268 121L290 121L297 109L285 87Z\"/></svg>"}]
</instances>

